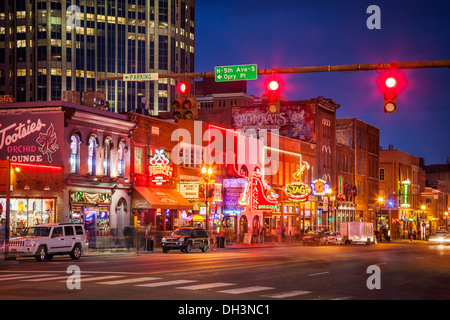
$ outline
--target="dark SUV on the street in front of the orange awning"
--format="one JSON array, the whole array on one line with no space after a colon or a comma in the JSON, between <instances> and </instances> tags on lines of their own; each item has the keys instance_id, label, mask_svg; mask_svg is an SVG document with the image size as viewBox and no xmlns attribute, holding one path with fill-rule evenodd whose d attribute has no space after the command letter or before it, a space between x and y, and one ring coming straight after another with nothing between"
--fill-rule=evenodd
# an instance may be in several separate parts
<instances>
[{"instance_id":1,"label":"dark SUV on the street in front of the orange awning","mask_svg":"<svg viewBox=\"0 0 450 320\"><path fill-rule=\"evenodd\" d=\"M209 237L201 228L180 228L172 232L170 236L164 237L161 247L164 253L172 249L189 253L194 248L206 252L209 249Z\"/></svg>"}]
</instances>

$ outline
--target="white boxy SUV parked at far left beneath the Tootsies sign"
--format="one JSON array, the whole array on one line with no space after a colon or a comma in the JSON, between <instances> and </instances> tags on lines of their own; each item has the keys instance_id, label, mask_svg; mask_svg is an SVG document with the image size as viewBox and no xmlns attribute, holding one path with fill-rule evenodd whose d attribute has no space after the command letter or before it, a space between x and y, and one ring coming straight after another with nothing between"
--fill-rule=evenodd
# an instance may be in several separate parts
<instances>
[{"instance_id":1,"label":"white boxy SUV parked at far left beneath the Tootsies sign","mask_svg":"<svg viewBox=\"0 0 450 320\"><path fill-rule=\"evenodd\" d=\"M9 241L8 247L11 255L34 256L37 261L64 254L77 260L87 252L88 242L82 224L52 223L25 228L21 237Z\"/></svg>"}]
</instances>

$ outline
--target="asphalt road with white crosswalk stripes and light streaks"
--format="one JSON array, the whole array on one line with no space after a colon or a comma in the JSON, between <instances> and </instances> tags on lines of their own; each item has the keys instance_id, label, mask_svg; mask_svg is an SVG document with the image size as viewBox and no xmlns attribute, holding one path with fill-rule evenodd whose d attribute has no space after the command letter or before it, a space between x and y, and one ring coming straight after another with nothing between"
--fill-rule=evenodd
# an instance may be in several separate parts
<instances>
[{"instance_id":1,"label":"asphalt road with white crosswalk stripes and light streaks","mask_svg":"<svg viewBox=\"0 0 450 320\"><path fill-rule=\"evenodd\" d=\"M81 272L81 282L68 268ZM0 264L2 300L448 300L449 284L450 246L419 242L97 253Z\"/></svg>"}]
</instances>

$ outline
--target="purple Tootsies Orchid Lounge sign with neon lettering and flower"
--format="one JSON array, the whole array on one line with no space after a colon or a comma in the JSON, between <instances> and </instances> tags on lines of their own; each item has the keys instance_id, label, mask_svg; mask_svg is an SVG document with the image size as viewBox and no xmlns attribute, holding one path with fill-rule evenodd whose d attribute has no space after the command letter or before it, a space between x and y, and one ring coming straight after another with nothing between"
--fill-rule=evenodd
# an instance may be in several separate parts
<instances>
[{"instance_id":1,"label":"purple Tootsies Orchid Lounge sign with neon lettering and flower","mask_svg":"<svg viewBox=\"0 0 450 320\"><path fill-rule=\"evenodd\" d=\"M0 160L63 166L64 114L0 115Z\"/></svg>"}]
</instances>

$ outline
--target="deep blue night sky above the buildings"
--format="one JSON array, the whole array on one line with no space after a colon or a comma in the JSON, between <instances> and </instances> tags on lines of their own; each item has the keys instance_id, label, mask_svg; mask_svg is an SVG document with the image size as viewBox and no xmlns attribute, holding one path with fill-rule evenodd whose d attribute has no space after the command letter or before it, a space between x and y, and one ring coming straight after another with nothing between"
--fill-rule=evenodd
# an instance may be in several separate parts
<instances>
[{"instance_id":1,"label":"deep blue night sky above the buildings","mask_svg":"<svg viewBox=\"0 0 450 320\"><path fill-rule=\"evenodd\" d=\"M381 29L366 26L370 5ZM196 1L196 72L257 64L259 69L450 59L450 1L241 0ZM380 129L380 146L423 157L450 156L450 69L400 71L397 113L384 113L376 71L280 75L282 96L318 96L340 104L338 118L356 117ZM264 94L267 76L248 81Z\"/></svg>"}]
</instances>

